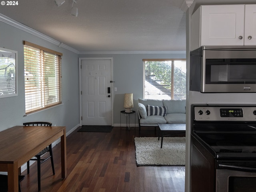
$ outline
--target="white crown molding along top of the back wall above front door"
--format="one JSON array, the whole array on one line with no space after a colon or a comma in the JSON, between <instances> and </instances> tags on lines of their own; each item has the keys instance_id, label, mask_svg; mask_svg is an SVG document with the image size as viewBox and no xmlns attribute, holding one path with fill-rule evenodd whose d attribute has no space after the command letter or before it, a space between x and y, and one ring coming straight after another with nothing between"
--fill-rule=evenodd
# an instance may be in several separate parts
<instances>
[{"instance_id":1,"label":"white crown molding along top of the back wall above front door","mask_svg":"<svg viewBox=\"0 0 256 192\"><path fill-rule=\"evenodd\" d=\"M186 54L186 51L80 51L80 55L109 54Z\"/></svg>"}]
</instances>

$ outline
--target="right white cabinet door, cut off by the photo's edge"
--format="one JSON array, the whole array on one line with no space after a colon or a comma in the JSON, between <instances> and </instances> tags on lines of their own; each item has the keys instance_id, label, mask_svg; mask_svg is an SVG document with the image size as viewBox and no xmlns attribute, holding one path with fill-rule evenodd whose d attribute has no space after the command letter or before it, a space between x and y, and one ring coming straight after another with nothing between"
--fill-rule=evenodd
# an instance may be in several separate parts
<instances>
[{"instance_id":1,"label":"right white cabinet door, cut off by the photo's edge","mask_svg":"<svg viewBox=\"0 0 256 192\"><path fill-rule=\"evenodd\" d=\"M256 45L256 5L245 6L244 45Z\"/></svg>"}]
</instances>

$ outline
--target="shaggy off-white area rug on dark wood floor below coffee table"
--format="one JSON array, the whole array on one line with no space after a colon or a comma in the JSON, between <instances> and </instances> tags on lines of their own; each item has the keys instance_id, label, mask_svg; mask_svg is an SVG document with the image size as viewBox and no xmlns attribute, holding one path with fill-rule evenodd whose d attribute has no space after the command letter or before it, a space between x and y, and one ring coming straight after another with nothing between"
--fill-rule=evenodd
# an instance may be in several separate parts
<instances>
[{"instance_id":1,"label":"shaggy off-white area rug on dark wood floor below coffee table","mask_svg":"<svg viewBox=\"0 0 256 192\"><path fill-rule=\"evenodd\" d=\"M138 166L185 165L185 137L135 137L136 163Z\"/></svg>"}]
</instances>

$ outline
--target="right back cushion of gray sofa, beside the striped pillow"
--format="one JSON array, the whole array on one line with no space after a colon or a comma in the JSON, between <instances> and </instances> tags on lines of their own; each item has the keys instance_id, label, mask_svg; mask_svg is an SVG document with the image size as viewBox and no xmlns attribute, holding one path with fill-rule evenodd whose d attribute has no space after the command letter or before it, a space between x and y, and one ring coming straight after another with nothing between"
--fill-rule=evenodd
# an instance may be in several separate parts
<instances>
[{"instance_id":1,"label":"right back cushion of gray sofa, beside the striped pillow","mask_svg":"<svg viewBox=\"0 0 256 192\"><path fill-rule=\"evenodd\" d=\"M163 100L164 106L167 106L167 114L186 113L186 100Z\"/></svg>"}]
</instances>

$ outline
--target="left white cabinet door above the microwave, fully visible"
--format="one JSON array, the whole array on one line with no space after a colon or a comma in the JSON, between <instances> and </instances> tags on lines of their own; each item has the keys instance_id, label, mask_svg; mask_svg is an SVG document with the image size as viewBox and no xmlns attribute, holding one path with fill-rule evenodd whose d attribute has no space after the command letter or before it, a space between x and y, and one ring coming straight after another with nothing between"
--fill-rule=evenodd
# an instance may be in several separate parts
<instances>
[{"instance_id":1,"label":"left white cabinet door above the microwave, fully visible","mask_svg":"<svg viewBox=\"0 0 256 192\"><path fill-rule=\"evenodd\" d=\"M244 5L202 6L201 27L201 45L244 45Z\"/></svg>"}]
</instances>

